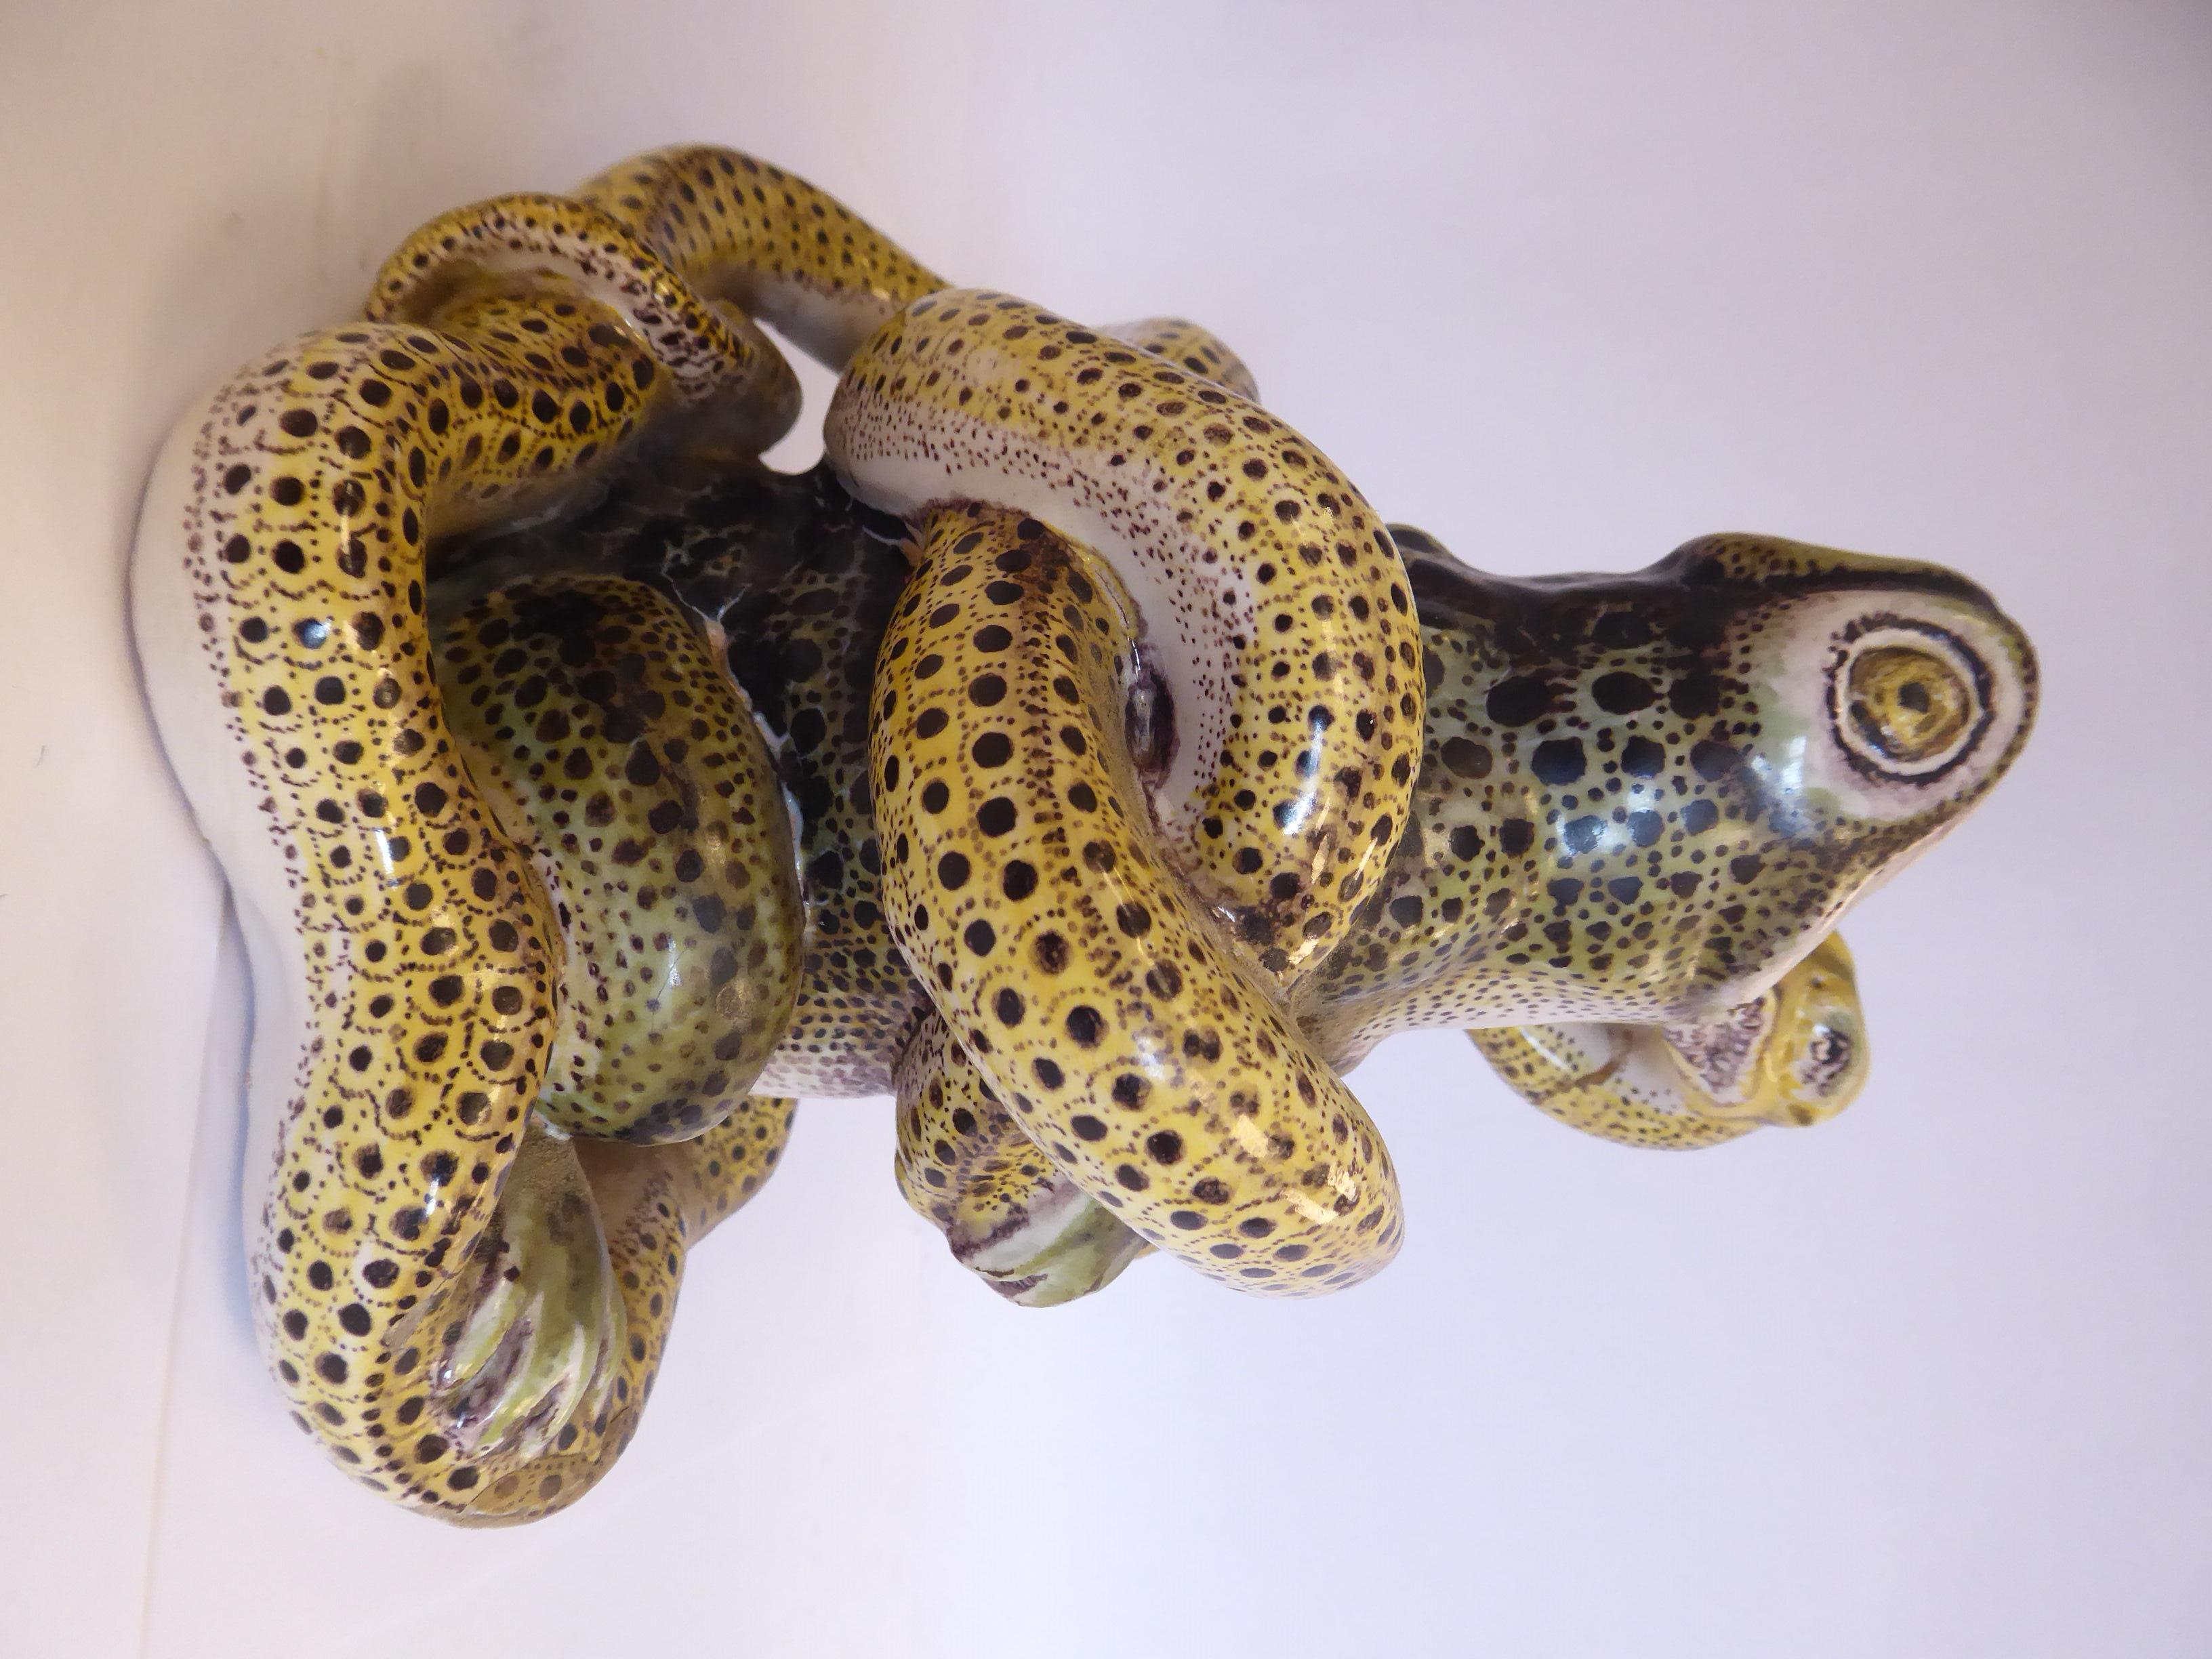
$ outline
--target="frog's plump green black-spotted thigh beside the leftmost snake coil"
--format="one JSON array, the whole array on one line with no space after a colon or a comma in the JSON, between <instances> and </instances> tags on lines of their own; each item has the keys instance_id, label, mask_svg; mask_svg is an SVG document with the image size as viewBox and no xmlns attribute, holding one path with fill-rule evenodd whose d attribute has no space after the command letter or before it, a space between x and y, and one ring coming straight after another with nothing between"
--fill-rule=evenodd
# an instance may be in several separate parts
<instances>
[{"instance_id":1,"label":"frog's plump green black-spotted thigh beside the leftmost snake coil","mask_svg":"<svg viewBox=\"0 0 2212 1659\"><path fill-rule=\"evenodd\" d=\"M774 763L706 639L639 584L524 577L440 630L438 677L560 925L535 1110L626 1141L721 1121L783 1040L805 918Z\"/></svg>"}]
</instances>

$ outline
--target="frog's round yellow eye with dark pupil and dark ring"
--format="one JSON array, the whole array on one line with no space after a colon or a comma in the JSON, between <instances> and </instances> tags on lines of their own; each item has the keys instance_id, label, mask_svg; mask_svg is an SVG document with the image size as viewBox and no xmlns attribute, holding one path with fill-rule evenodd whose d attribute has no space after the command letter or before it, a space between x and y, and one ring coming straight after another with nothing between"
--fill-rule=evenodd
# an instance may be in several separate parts
<instances>
[{"instance_id":1,"label":"frog's round yellow eye with dark pupil and dark ring","mask_svg":"<svg viewBox=\"0 0 2212 1659\"><path fill-rule=\"evenodd\" d=\"M1989 730L1989 670L1942 628L1876 619L1829 672L1829 717L1851 765L1924 783Z\"/></svg>"}]
</instances>

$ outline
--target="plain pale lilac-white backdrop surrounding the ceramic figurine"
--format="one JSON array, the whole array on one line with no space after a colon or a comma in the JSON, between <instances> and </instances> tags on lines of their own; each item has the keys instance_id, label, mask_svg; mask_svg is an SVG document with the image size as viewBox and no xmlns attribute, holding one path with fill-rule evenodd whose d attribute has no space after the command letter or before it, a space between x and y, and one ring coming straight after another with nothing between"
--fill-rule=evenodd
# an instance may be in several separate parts
<instances>
[{"instance_id":1,"label":"plain pale lilac-white backdrop surrounding the ceramic figurine","mask_svg":"<svg viewBox=\"0 0 2212 1659\"><path fill-rule=\"evenodd\" d=\"M330 1473L246 1329L135 495L427 215L670 139L1206 319L1478 564L1984 580L2042 726L1847 929L1860 1104L1637 1155L1400 1037L1389 1274L1044 1314L905 1212L880 1102L810 1104L588 1502L453 1533ZM2212 1652L2203 4L15 0L0 155L0 1652Z\"/></svg>"}]
</instances>

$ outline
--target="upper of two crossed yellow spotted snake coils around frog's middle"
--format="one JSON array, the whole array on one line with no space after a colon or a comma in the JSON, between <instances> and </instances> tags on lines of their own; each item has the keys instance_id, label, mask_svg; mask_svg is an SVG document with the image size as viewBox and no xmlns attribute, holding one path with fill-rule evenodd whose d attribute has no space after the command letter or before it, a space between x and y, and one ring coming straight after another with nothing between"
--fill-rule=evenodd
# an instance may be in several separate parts
<instances>
[{"instance_id":1,"label":"upper of two crossed yellow spotted snake coils around frog's middle","mask_svg":"<svg viewBox=\"0 0 2212 1659\"><path fill-rule=\"evenodd\" d=\"M907 307L845 369L838 473L989 500L1106 557L1172 706L1152 812L1270 973L1343 938L1405 825L1420 657L1380 520L1252 403L1004 294Z\"/></svg>"}]
</instances>

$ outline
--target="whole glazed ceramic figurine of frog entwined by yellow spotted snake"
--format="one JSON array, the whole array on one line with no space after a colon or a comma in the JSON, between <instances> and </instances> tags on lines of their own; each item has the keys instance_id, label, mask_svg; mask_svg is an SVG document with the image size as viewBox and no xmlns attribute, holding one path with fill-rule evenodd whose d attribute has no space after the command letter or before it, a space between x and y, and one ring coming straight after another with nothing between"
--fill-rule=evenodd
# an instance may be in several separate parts
<instances>
[{"instance_id":1,"label":"whole glazed ceramic figurine of frog entwined by yellow spotted snake","mask_svg":"<svg viewBox=\"0 0 2212 1659\"><path fill-rule=\"evenodd\" d=\"M814 473L757 321L841 372ZM1203 330L949 288L717 148L434 219L239 369L133 613L250 945L270 1365L460 1522L606 1473L794 1095L896 1093L1029 1305L1387 1265L1343 1073L1394 1031L1639 1146L1836 1113L1836 920L2035 708L1927 564L1482 575Z\"/></svg>"}]
</instances>

